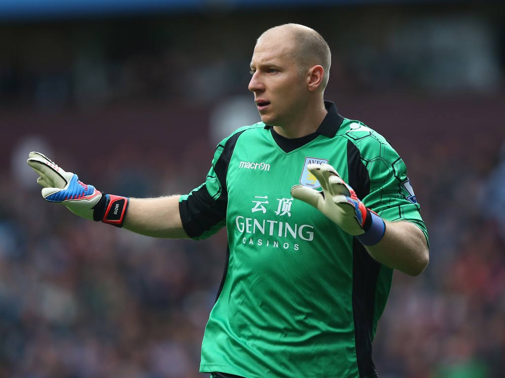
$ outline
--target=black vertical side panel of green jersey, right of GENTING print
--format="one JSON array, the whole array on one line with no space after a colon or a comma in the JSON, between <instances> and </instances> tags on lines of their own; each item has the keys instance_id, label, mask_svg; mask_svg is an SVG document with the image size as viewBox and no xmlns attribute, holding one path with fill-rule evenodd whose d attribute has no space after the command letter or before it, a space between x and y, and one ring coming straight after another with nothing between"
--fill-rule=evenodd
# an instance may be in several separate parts
<instances>
[{"instance_id":1,"label":"black vertical side panel of green jersey, right of GENTING print","mask_svg":"<svg viewBox=\"0 0 505 378\"><path fill-rule=\"evenodd\" d=\"M348 184L354 188L358 198L370 193L370 177L361 161L360 150L347 142ZM377 376L372 361L372 327L374 321L375 288L381 265L370 257L358 239L352 241L352 311L356 339L356 358L360 377Z\"/></svg>"}]
</instances>

